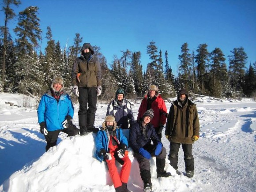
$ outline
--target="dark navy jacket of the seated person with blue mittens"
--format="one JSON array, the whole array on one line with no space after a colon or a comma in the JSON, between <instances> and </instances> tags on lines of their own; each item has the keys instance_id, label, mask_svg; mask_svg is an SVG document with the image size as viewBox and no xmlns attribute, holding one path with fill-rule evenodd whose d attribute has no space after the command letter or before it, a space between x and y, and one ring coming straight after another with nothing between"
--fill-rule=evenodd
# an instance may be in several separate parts
<instances>
[{"instance_id":1,"label":"dark navy jacket of the seated person with blue mittens","mask_svg":"<svg viewBox=\"0 0 256 192\"><path fill-rule=\"evenodd\" d=\"M132 147L134 152L139 153L139 149L141 147L147 147L151 144L151 141L153 141L154 145L156 145L158 142L161 143L152 124L147 124L145 129L147 137L145 137L143 134L140 120L137 120L137 122L132 124L130 128L129 146Z\"/></svg>"}]
</instances>

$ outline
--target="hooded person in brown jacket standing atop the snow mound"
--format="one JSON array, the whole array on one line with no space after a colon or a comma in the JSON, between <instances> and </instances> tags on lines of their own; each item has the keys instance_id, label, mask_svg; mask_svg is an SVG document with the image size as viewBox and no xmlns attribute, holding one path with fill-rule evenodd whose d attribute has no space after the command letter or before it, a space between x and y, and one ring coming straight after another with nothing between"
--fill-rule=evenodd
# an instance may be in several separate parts
<instances>
[{"instance_id":1,"label":"hooded person in brown jacket standing atop the snow mound","mask_svg":"<svg viewBox=\"0 0 256 192\"><path fill-rule=\"evenodd\" d=\"M98 129L94 128L94 120L97 96L102 92L101 67L90 43L83 44L81 56L74 61L71 77L73 91L79 101L80 135L97 132Z\"/></svg>"}]
</instances>

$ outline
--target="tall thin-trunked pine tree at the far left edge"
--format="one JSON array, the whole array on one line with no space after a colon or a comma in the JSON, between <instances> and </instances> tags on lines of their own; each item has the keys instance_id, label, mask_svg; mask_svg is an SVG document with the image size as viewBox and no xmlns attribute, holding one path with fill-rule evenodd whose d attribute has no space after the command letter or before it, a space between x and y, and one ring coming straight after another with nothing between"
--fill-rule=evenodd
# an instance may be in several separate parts
<instances>
[{"instance_id":1,"label":"tall thin-trunked pine tree at the far left edge","mask_svg":"<svg viewBox=\"0 0 256 192\"><path fill-rule=\"evenodd\" d=\"M13 11L13 9L11 9L11 5L14 4L15 6L19 6L19 4L21 4L21 2L19 0L4 0L3 1L4 6L3 6L3 10L4 10L4 26L0 27L0 31L1 34L3 34L4 39L3 39L3 66L2 66L2 88L4 87L5 84L5 65L6 65L6 56L7 55L7 46L8 46L8 36L9 36L9 29L7 26L7 23L11 20L14 19L16 14Z\"/></svg>"}]
</instances>

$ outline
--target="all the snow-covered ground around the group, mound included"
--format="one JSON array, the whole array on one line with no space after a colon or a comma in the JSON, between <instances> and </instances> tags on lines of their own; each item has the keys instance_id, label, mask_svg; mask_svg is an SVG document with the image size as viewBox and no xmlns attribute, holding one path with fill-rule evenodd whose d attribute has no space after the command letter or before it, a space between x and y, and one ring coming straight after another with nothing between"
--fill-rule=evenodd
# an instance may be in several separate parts
<instances>
[{"instance_id":1,"label":"all the snow-covered ground around the group, mound included","mask_svg":"<svg viewBox=\"0 0 256 192\"><path fill-rule=\"evenodd\" d=\"M197 97L194 102L200 118L200 138L193 145L195 175L192 179L177 175L166 158L166 170L172 176L157 179L152 158L153 191L255 192L256 102L249 98L235 101L209 97ZM105 163L92 157L95 135L67 137L61 133L57 147L46 153L34 105L33 99L23 95L0 94L0 191L114 192ZM168 110L170 105L166 104ZM106 107L98 104L96 125L102 124ZM76 125L78 108L75 105ZM139 103L132 109L136 117ZM162 142L169 151L165 137ZM130 148L129 157L132 170L128 189L143 191L139 166ZM184 173L182 149L178 166Z\"/></svg>"}]
</instances>

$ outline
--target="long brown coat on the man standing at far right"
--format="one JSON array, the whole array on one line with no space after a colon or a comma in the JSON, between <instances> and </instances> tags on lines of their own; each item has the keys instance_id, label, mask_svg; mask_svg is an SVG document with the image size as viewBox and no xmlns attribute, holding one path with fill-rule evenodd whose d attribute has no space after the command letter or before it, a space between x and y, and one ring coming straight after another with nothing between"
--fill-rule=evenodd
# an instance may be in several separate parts
<instances>
[{"instance_id":1,"label":"long brown coat on the man standing at far right","mask_svg":"<svg viewBox=\"0 0 256 192\"><path fill-rule=\"evenodd\" d=\"M196 104L187 99L182 106L176 100L172 103L166 122L165 135L173 143L192 144L192 136L199 136L199 118Z\"/></svg>"}]
</instances>

